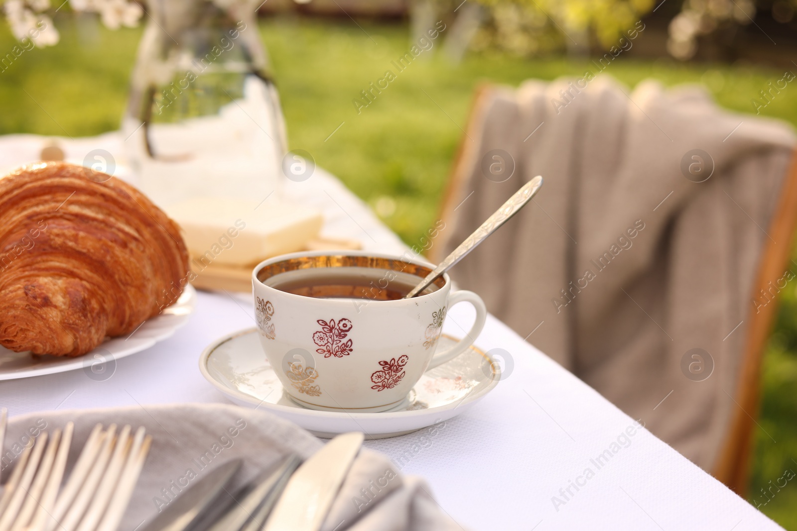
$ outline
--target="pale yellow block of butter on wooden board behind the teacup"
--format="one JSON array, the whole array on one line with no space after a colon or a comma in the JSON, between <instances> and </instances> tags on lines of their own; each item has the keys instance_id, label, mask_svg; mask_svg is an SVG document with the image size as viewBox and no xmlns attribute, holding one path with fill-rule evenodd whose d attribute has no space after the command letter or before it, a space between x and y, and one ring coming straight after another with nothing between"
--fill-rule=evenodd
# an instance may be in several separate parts
<instances>
[{"instance_id":1,"label":"pale yellow block of butter on wooden board behind the teacup","mask_svg":"<svg viewBox=\"0 0 797 531\"><path fill-rule=\"evenodd\" d=\"M245 266L300 251L324 223L316 209L233 197L192 197L166 212L183 228L192 267L200 268Z\"/></svg>"}]
</instances>

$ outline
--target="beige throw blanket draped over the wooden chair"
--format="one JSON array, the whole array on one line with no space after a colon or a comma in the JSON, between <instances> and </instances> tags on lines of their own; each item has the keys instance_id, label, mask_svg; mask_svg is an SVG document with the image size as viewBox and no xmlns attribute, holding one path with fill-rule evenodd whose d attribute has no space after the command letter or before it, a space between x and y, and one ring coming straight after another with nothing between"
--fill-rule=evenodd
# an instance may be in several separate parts
<instances>
[{"instance_id":1,"label":"beige throw blanket draped over the wooden chair","mask_svg":"<svg viewBox=\"0 0 797 531\"><path fill-rule=\"evenodd\" d=\"M534 203L453 278L711 470L737 407L746 315L768 301L752 300L753 281L795 137L698 87L583 84L529 81L481 100L436 258L541 174Z\"/></svg>"}]
</instances>

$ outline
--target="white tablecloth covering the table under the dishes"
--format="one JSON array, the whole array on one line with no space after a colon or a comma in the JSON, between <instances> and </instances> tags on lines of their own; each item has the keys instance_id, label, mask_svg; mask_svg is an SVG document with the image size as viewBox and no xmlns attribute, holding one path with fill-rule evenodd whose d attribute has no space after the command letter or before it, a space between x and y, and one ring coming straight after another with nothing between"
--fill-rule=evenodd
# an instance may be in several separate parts
<instances>
[{"instance_id":1,"label":"white tablecloth covering the table under the dishes","mask_svg":"<svg viewBox=\"0 0 797 531\"><path fill-rule=\"evenodd\" d=\"M0 139L0 168L35 159L43 142L31 135ZM118 135L108 134L63 145L68 158L82 160L100 146L119 161L124 160L120 142ZM324 210L329 236L356 238L364 248L384 252L406 249L323 170L290 185L286 195ZM469 325L473 310L461 306L451 310L446 333L461 336ZM200 293L196 313L183 329L116 361L108 380L94 381L77 370L3 381L0 404L18 415L54 408L226 402L202 378L198 356L214 339L250 326L247 298ZM442 509L463 527L780 529L650 432L634 428L634 420L496 318L488 318L476 344L509 353L505 380L489 396L434 435L422 430L366 443L401 463L403 473L424 476Z\"/></svg>"}]
</instances>

